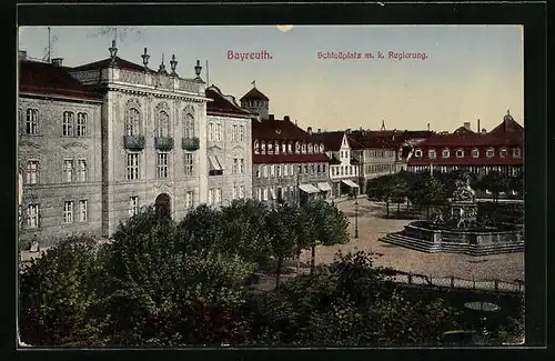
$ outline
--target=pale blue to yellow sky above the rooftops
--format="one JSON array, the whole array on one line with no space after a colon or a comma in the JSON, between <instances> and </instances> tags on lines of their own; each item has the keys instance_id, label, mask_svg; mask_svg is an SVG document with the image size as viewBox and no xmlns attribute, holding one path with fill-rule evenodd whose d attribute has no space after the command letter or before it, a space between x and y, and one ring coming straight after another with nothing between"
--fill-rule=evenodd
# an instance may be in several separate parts
<instances>
[{"instance_id":1,"label":"pale blue to yellow sky above the rooftops","mask_svg":"<svg viewBox=\"0 0 555 361\"><path fill-rule=\"evenodd\" d=\"M109 57L113 32L52 27L51 58L79 66ZM252 88L270 98L270 113L290 116L302 128L322 130L427 129L453 131L463 122L491 130L507 110L524 126L524 60L521 26L273 26L118 28L118 56L202 78L238 100ZM47 53L46 27L22 27L19 49ZM269 59L229 59L266 52ZM395 59L389 53L425 53ZM319 53L361 53L361 59L323 59ZM381 52L384 58L377 58ZM375 58L366 59L366 53Z\"/></svg>"}]
</instances>

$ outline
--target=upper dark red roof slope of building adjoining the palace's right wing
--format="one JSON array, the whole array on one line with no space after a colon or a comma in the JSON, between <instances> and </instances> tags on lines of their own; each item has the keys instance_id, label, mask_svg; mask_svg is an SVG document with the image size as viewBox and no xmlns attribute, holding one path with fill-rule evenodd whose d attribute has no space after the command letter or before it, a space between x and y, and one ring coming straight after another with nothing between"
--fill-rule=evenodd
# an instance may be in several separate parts
<instances>
[{"instance_id":1,"label":"upper dark red roof slope of building adjoining the palace's right wing","mask_svg":"<svg viewBox=\"0 0 555 361\"><path fill-rule=\"evenodd\" d=\"M286 118L286 117L285 117ZM252 121L252 139L254 140L286 140L317 143L314 133L311 136L289 119L260 119Z\"/></svg>"}]
</instances>

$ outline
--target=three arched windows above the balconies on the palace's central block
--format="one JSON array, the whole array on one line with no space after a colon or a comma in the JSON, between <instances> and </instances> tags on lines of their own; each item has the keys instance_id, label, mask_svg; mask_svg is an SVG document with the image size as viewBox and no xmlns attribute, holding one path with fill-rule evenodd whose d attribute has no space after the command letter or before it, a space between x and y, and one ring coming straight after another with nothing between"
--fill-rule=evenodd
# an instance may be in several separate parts
<instances>
[{"instance_id":1,"label":"three arched windows above the balconies on the palace's central block","mask_svg":"<svg viewBox=\"0 0 555 361\"><path fill-rule=\"evenodd\" d=\"M157 112L157 137L170 137L170 116L164 110ZM183 113L183 137L194 137L194 117L190 110L185 109ZM140 136L142 133L141 113L137 108L129 108L125 112L125 134Z\"/></svg>"}]
</instances>

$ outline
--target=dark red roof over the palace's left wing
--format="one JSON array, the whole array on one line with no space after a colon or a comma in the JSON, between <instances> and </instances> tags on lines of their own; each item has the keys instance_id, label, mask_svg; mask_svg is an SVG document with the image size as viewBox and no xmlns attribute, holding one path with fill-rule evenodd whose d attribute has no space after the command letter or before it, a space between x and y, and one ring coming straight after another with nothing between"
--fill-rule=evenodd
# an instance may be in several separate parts
<instances>
[{"instance_id":1,"label":"dark red roof over the palace's left wing","mask_svg":"<svg viewBox=\"0 0 555 361\"><path fill-rule=\"evenodd\" d=\"M38 61L19 62L19 92L79 100L101 99L92 88L73 78L68 68Z\"/></svg>"}]
</instances>

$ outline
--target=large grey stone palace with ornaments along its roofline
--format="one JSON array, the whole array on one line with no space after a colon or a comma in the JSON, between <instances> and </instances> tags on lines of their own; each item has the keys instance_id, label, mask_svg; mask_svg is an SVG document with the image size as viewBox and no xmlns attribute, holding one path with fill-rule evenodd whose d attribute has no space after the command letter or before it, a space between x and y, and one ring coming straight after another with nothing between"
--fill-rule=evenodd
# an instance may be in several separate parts
<instances>
[{"instance_id":1,"label":"large grey stone palace with ornaments along its roofline","mask_svg":"<svg viewBox=\"0 0 555 361\"><path fill-rule=\"evenodd\" d=\"M209 201L209 184L236 184L238 193L249 192L248 172L209 182L221 142L209 139L208 119L225 122L225 133L244 127L243 150L234 159L243 159L245 170L249 120L240 111L220 114L215 108L206 114L206 102L218 99L206 97L199 61L196 78L185 79L176 73L174 58L170 71L163 59L154 71L147 49L142 66L119 58L115 43L109 51L109 58L75 68L63 67L61 59L31 61L20 52L23 240L37 237L50 244L71 233L109 237L120 221L152 203L181 219L188 209ZM220 159L221 169L233 169L234 159Z\"/></svg>"}]
</instances>

